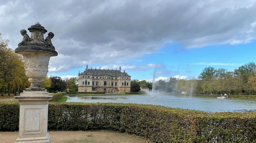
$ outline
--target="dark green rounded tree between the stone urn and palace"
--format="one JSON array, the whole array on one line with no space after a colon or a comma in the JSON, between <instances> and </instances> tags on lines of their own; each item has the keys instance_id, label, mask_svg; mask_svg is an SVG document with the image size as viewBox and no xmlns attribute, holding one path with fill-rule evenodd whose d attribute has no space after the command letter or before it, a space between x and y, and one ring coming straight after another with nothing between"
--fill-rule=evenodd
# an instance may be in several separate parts
<instances>
[{"instance_id":1,"label":"dark green rounded tree between the stone urn and palace","mask_svg":"<svg viewBox=\"0 0 256 143\"><path fill-rule=\"evenodd\" d=\"M48 88L49 91L51 92L57 92L57 91L61 91L63 92L67 86L64 80L61 79L61 77L58 76L51 76L50 77L51 81L52 81L52 85L50 88Z\"/></svg>"}]
</instances>

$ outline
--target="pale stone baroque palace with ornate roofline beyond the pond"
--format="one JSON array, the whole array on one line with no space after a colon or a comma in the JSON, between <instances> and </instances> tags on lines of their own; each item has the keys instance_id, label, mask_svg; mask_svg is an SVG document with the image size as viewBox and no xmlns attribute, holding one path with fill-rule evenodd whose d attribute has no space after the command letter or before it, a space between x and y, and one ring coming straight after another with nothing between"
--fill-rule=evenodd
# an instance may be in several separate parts
<instances>
[{"instance_id":1,"label":"pale stone baroque palace with ornate roofline beyond the pond","mask_svg":"<svg viewBox=\"0 0 256 143\"><path fill-rule=\"evenodd\" d=\"M78 92L125 93L131 91L131 76L127 72L109 69L88 69L78 73Z\"/></svg>"}]
</instances>

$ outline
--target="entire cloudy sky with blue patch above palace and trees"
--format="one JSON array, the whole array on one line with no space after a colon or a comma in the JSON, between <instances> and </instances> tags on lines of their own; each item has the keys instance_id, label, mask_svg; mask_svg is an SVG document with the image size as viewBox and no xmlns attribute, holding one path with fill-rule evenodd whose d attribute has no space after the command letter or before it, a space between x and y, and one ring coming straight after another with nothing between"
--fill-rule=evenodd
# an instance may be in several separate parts
<instances>
[{"instance_id":1,"label":"entire cloudy sky with blue patch above palace and trees","mask_svg":"<svg viewBox=\"0 0 256 143\"><path fill-rule=\"evenodd\" d=\"M255 62L255 13L255 0L0 0L0 32L13 50L37 22L53 32L48 76L121 66L169 81Z\"/></svg>"}]
</instances>

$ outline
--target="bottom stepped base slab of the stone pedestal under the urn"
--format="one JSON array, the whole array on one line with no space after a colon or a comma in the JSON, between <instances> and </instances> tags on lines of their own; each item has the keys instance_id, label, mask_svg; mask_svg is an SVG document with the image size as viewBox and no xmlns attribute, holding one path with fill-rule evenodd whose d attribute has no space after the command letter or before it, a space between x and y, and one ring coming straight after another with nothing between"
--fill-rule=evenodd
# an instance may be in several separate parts
<instances>
[{"instance_id":1,"label":"bottom stepped base slab of the stone pedestal under the urn","mask_svg":"<svg viewBox=\"0 0 256 143\"><path fill-rule=\"evenodd\" d=\"M50 143L49 133L45 137L23 137L17 138L15 143Z\"/></svg>"}]
</instances>

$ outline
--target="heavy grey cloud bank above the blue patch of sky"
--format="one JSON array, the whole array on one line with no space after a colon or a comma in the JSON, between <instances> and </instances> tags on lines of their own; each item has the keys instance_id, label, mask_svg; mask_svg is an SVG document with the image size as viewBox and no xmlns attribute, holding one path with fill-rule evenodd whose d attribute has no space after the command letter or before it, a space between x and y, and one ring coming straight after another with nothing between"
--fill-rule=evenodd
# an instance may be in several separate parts
<instances>
[{"instance_id":1,"label":"heavy grey cloud bank above the blue patch of sky","mask_svg":"<svg viewBox=\"0 0 256 143\"><path fill-rule=\"evenodd\" d=\"M49 71L60 72L133 59L168 42L182 49L249 43L255 13L250 0L0 0L0 32L15 49L19 31L40 22L59 52Z\"/></svg>"}]
</instances>

